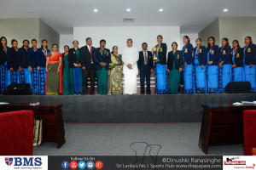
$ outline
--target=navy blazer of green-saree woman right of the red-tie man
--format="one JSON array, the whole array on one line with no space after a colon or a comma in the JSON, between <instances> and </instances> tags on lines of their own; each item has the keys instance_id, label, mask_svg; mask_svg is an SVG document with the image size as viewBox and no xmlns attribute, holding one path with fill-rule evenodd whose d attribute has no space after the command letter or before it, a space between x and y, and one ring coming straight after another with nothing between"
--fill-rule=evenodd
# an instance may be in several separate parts
<instances>
[{"instance_id":1,"label":"navy blazer of green-saree woman right of the red-tie man","mask_svg":"<svg viewBox=\"0 0 256 170\"><path fill-rule=\"evenodd\" d=\"M100 52L101 48L96 48L93 52L93 64L94 64L94 68L96 70L102 70L102 65L100 65L100 63L107 63L107 65L105 66L106 70L108 70L108 65L111 59L111 54L110 54L110 50L108 48L105 48L105 54L102 54Z\"/></svg>"}]
</instances>

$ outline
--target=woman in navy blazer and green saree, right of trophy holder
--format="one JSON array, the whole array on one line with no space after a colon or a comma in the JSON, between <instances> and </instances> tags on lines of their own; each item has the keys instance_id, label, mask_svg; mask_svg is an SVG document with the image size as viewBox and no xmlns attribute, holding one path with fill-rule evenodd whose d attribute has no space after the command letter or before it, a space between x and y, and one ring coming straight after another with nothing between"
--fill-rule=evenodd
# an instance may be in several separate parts
<instances>
[{"instance_id":1,"label":"woman in navy blazer and green saree, right of trophy holder","mask_svg":"<svg viewBox=\"0 0 256 170\"><path fill-rule=\"evenodd\" d=\"M183 53L177 50L177 42L172 42L172 51L168 53L167 73L169 74L168 94L178 94L183 71Z\"/></svg>"}]
</instances>

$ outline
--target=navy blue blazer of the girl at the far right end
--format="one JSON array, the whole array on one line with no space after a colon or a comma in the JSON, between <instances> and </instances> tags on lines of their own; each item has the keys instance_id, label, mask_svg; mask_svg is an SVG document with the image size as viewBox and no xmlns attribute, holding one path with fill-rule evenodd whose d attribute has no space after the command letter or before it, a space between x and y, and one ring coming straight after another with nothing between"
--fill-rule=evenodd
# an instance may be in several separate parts
<instances>
[{"instance_id":1,"label":"navy blue blazer of the girl at the far right end","mask_svg":"<svg viewBox=\"0 0 256 170\"><path fill-rule=\"evenodd\" d=\"M243 48L243 50L246 47ZM246 50L244 51L245 55L245 65L256 65L256 45L250 43Z\"/></svg>"}]
</instances>

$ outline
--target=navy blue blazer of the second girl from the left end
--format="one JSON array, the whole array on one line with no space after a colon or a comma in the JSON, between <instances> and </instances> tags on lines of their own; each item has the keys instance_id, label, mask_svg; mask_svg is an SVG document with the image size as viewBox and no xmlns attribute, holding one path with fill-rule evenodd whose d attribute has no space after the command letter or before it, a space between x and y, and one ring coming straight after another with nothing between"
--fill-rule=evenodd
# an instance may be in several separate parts
<instances>
[{"instance_id":1,"label":"navy blue blazer of the second girl from the left end","mask_svg":"<svg viewBox=\"0 0 256 170\"><path fill-rule=\"evenodd\" d=\"M7 51L7 68L10 69L11 67L14 68L14 70L17 70L19 68L18 65L18 51L15 50L15 48L9 48Z\"/></svg>"}]
</instances>

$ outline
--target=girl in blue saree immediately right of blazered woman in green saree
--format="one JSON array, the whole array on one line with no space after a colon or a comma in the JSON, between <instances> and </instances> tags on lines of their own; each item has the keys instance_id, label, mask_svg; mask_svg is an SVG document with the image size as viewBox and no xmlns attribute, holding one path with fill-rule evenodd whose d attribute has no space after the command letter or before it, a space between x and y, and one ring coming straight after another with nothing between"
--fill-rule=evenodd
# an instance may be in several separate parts
<instances>
[{"instance_id":1,"label":"girl in blue saree immediately right of blazered woman in green saree","mask_svg":"<svg viewBox=\"0 0 256 170\"><path fill-rule=\"evenodd\" d=\"M193 46L188 36L183 37L183 65L184 65L184 94L195 93L193 81Z\"/></svg>"}]
</instances>

